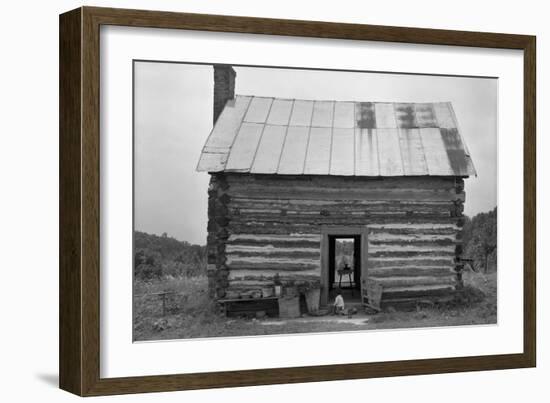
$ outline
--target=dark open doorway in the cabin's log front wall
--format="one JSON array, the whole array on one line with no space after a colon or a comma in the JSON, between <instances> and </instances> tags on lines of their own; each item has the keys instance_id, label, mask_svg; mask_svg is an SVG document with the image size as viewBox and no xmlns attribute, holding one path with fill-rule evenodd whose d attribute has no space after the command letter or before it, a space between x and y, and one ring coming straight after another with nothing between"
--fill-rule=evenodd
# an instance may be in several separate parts
<instances>
[{"instance_id":1,"label":"dark open doorway in the cabin's log front wall","mask_svg":"<svg viewBox=\"0 0 550 403\"><path fill-rule=\"evenodd\" d=\"M329 235L329 301L340 288L345 301L361 299L361 235Z\"/></svg>"}]
</instances>

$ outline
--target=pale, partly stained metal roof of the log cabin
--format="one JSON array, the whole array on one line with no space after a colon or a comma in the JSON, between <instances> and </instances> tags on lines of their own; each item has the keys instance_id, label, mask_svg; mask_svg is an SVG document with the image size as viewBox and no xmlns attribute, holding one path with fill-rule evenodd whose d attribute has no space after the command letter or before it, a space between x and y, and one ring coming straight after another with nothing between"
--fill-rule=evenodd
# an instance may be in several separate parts
<instances>
[{"instance_id":1,"label":"pale, partly stained metal roof of the log cabin","mask_svg":"<svg viewBox=\"0 0 550 403\"><path fill-rule=\"evenodd\" d=\"M286 175L470 176L450 102L344 102L236 96L198 171Z\"/></svg>"}]
</instances>

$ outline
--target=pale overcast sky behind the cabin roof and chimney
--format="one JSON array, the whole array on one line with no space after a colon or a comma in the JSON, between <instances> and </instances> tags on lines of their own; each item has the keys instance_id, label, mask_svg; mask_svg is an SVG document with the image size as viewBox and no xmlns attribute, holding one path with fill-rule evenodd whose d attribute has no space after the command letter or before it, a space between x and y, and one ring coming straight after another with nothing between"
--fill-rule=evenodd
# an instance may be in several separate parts
<instances>
[{"instance_id":1,"label":"pale overcast sky behind the cabin roof and chimney","mask_svg":"<svg viewBox=\"0 0 550 403\"><path fill-rule=\"evenodd\" d=\"M235 67L237 94L283 98L451 101L477 178L465 214L496 206L496 79ZM196 172L212 129L213 68L135 64L135 229L206 243L209 175Z\"/></svg>"}]
</instances>

